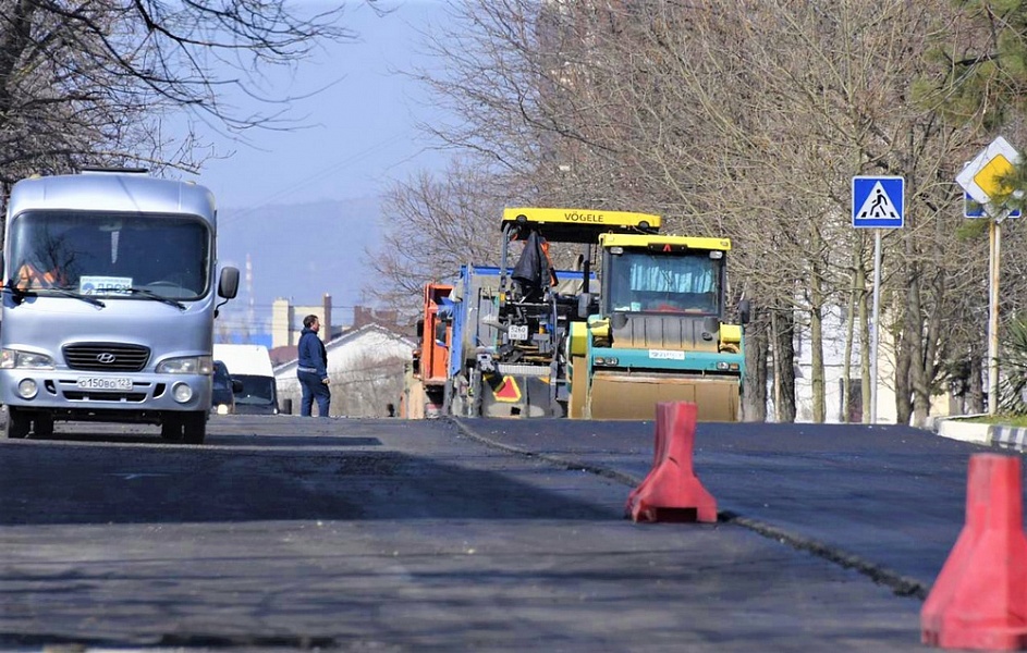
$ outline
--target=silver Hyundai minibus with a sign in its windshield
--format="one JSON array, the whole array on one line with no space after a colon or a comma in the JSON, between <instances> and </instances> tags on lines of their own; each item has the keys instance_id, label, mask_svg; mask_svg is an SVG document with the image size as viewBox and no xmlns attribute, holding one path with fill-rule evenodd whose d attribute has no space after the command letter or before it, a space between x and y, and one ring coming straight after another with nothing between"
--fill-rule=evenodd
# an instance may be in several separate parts
<instances>
[{"instance_id":1,"label":"silver Hyundai minibus with a sign in its windshield","mask_svg":"<svg viewBox=\"0 0 1027 653\"><path fill-rule=\"evenodd\" d=\"M239 288L237 269L217 274L210 190L125 170L22 180L2 262L8 438L99 421L204 442L213 320Z\"/></svg>"}]
</instances>

